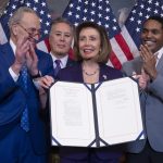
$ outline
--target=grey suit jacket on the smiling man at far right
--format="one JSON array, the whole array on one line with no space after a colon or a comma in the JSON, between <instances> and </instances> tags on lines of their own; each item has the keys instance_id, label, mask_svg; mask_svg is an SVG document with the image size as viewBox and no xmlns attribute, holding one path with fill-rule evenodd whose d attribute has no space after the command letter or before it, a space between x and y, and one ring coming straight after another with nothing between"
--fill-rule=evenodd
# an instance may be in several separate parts
<instances>
[{"instance_id":1,"label":"grey suit jacket on the smiling man at far right","mask_svg":"<svg viewBox=\"0 0 163 163\"><path fill-rule=\"evenodd\" d=\"M137 58L123 65L123 70L127 75L141 70L142 61ZM151 148L158 152L163 152L163 55L156 65L158 76L148 84L145 93L140 96L142 103L142 117L145 121L145 129ZM127 146L127 151L138 153L146 145L146 139L130 142Z\"/></svg>"}]
</instances>

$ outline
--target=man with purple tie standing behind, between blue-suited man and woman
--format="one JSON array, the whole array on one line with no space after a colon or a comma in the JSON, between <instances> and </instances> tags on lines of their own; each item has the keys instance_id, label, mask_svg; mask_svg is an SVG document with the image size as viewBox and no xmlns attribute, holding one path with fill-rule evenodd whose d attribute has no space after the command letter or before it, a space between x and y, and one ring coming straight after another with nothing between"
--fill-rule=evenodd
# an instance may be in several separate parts
<instances>
[{"instance_id":1,"label":"man with purple tie standing behind, between blue-suited man and woman","mask_svg":"<svg viewBox=\"0 0 163 163\"><path fill-rule=\"evenodd\" d=\"M54 76L57 76L60 68L75 64L75 61L68 57L73 38L74 26L67 20L58 17L52 22L49 43L51 48L50 54L53 60Z\"/></svg>"}]
</instances>

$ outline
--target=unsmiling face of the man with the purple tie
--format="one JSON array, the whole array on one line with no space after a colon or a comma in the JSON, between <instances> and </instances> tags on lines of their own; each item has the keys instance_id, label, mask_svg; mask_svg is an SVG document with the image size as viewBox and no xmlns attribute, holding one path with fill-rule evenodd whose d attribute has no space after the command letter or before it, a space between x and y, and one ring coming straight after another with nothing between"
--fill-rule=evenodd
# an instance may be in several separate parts
<instances>
[{"instance_id":1,"label":"unsmiling face of the man with the purple tie","mask_svg":"<svg viewBox=\"0 0 163 163\"><path fill-rule=\"evenodd\" d=\"M67 54L73 40L73 32L68 24L54 24L50 32L49 42L51 52L57 57L64 57Z\"/></svg>"}]
</instances>

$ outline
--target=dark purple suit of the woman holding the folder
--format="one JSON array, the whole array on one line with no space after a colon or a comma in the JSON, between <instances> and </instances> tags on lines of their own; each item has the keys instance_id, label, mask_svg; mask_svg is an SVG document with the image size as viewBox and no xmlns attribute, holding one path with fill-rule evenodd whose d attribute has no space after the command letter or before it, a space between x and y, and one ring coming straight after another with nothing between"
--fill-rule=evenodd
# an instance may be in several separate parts
<instances>
[{"instance_id":1,"label":"dark purple suit of the woman holding the folder","mask_svg":"<svg viewBox=\"0 0 163 163\"><path fill-rule=\"evenodd\" d=\"M123 77L123 74L110 66L106 66L105 64L100 64L100 77L99 82L110 80ZM57 76L59 80L65 80L65 82L77 82L77 83L84 83L83 78L83 71L82 71L82 64L76 63L76 65L71 67L65 67L61 70ZM112 150L112 149L111 149ZM63 158L71 158L74 160L82 160L85 159L89 153L88 148L73 148L73 147L61 147L60 149L60 155ZM110 159L110 158L117 158L120 156L120 153L116 152L110 152L109 148L100 148L96 149L96 153L101 159Z\"/></svg>"}]
</instances>

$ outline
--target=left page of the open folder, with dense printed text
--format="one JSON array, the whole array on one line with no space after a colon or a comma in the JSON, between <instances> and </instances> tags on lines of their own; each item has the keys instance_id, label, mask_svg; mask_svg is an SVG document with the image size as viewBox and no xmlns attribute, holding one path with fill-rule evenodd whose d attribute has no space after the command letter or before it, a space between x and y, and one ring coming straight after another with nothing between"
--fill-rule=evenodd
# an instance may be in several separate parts
<instances>
[{"instance_id":1,"label":"left page of the open folder, with dense printed text","mask_svg":"<svg viewBox=\"0 0 163 163\"><path fill-rule=\"evenodd\" d=\"M50 92L52 136L64 146L87 147L95 139L91 91L83 84L58 82Z\"/></svg>"}]
</instances>

